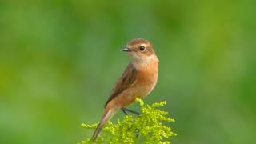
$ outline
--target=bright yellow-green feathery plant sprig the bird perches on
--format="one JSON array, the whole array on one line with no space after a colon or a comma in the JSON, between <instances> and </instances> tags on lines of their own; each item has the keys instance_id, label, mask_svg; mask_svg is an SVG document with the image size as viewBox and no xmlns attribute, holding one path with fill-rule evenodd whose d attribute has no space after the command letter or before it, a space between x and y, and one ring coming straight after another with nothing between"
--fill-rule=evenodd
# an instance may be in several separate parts
<instances>
[{"instance_id":1,"label":"bright yellow-green feathery plant sprig the bird perches on","mask_svg":"<svg viewBox=\"0 0 256 144\"><path fill-rule=\"evenodd\" d=\"M159 110L158 107L166 105L166 102L154 103L151 106L144 104L141 99L136 99L141 106L142 115L131 116L126 115L122 122L118 119L116 124L108 122L103 128L95 142L91 142L90 138L79 144L86 143L170 143L170 137L176 136L171 131L170 126L166 126L162 122L174 122L173 118L167 117L168 112ZM82 124L86 129L94 130L94 125ZM168 138L169 141L166 139Z\"/></svg>"}]
</instances>

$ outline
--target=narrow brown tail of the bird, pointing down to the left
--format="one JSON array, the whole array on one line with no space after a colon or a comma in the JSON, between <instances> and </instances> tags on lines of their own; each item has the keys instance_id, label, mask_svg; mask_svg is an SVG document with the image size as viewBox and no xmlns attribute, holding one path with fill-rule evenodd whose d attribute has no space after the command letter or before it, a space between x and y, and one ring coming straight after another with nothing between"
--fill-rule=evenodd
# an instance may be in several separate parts
<instances>
[{"instance_id":1,"label":"narrow brown tail of the bird, pointing down to the left","mask_svg":"<svg viewBox=\"0 0 256 144\"><path fill-rule=\"evenodd\" d=\"M98 134L101 132L102 130L102 127L104 126L104 124L110 120L110 118L112 118L115 114L116 110L114 110L113 108L112 109L109 109L106 107L105 111L104 111L104 114L102 115L102 119L101 121L99 122L96 130L94 131L94 135L92 136L91 140L92 141L95 141L96 138L98 137Z\"/></svg>"}]
</instances>

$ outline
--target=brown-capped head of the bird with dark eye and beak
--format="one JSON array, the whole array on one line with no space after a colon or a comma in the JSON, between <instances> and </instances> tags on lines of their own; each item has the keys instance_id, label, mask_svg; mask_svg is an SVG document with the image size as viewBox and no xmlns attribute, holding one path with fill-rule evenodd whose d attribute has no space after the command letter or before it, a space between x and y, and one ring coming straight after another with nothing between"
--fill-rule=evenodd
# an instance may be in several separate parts
<instances>
[{"instance_id":1,"label":"brown-capped head of the bird with dark eye and beak","mask_svg":"<svg viewBox=\"0 0 256 144\"><path fill-rule=\"evenodd\" d=\"M153 45L142 38L131 40L122 51L128 52L133 62L148 62L154 58Z\"/></svg>"}]
</instances>

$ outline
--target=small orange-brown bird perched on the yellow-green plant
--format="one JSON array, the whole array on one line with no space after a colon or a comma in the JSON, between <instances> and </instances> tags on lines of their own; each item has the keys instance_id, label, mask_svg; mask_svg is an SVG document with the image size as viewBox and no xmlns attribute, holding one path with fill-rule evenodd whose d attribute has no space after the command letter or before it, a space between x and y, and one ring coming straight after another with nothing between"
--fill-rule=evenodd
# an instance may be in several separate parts
<instances>
[{"instance_id":1,"label":"small orange-brown bird perched on the yellow-green plant","mask_svg":"<svg viewBox=\"0 0 256 144\"><path fill-rule=\"evenodd\" d=\"M110 98L108 98L105 104L102 119L92 137L93 141L98 137L102 126L118 110L122 110L125 114L126 111L138 114L125 107L132 104L136 98L144 98L150 94L158 81L159 60L150 42L142 38L136 38L128 42L122 51L128 52L131 62L118 79L110 94Z\"/></svg>"}]
</instances>

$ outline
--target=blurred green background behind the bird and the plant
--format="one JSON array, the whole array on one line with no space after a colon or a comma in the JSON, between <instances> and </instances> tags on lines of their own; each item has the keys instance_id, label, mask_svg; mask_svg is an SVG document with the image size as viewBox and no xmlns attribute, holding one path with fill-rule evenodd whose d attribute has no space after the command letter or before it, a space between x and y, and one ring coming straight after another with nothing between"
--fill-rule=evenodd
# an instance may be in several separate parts
<instances>
[{"instance_id":1,"label":"blurred green background behind the bird and the plant","mask_svg":"<svg viewBox=\"0 0 256 144\"><path fill-rule=\"evenodd\" d=\"M0 1L0 143L90 137L129 62L132 38L154 43L176 144L253 143L256 1ZM134 110L136 106L132 106ZM121 118L119 112L113 119Z\"/></svg>"}]
</instances>

